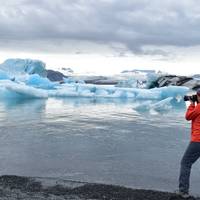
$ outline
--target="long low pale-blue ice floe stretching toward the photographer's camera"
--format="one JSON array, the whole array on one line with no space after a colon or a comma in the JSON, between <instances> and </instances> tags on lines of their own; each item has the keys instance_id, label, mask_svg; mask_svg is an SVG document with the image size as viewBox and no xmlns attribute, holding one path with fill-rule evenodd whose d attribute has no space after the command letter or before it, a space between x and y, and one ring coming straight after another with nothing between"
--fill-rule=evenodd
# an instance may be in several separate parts
<instances>
[{"instance_id":1,"label":"long low pale-blue ice floe stretching toward the photographer's camera","mask_svg":"<svg viewBox=\"0 0 200 200\"><path fill-rule=\"evenodd\" d=\"M49 91L50 96L61 95L76 97L133 98L138 100L162 100L167 97L183 96L188 88L166 87L156 89L116 88L112 86L96 86L93 84L63 84L57 91Z\"/></svg>"}]
</instances>

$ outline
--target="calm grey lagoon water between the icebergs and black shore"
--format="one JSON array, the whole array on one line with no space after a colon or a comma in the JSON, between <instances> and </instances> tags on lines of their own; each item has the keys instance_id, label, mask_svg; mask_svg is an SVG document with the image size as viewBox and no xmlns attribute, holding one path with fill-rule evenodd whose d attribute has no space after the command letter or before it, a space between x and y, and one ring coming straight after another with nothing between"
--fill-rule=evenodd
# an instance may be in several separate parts
<instances>
[{"instance_id":1,"label":"calm grey lagoon water between the icebergs and black shore","mask_svg":"<svg viewBox=\"0 0 200 200\"><path fill-rule=\"evenodd\" d=\"M177 189L190 138L185 108L134 110L134 101L66 98L0 102L0 174L134 188ZM191 191L199 193L200 163Z\"/></svg>"}]
</instances>

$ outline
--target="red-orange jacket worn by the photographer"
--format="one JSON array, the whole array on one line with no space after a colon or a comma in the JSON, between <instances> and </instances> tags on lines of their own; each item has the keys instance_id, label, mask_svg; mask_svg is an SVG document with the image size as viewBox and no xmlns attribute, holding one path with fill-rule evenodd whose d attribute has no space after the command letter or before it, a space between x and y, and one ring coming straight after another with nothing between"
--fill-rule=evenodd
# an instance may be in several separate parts
<instances>
[{"instance_id":1,"label":"red-orange jacket worn by the photographer","mask_svg":"<svg viewBox=\"0 0 200 200\"><path fill-rule=\"evenodd\" d=\"M191 141L200 142L200 103L190 104L185 114L186 120L192 120Z\"/></svg>"}]
</instances>

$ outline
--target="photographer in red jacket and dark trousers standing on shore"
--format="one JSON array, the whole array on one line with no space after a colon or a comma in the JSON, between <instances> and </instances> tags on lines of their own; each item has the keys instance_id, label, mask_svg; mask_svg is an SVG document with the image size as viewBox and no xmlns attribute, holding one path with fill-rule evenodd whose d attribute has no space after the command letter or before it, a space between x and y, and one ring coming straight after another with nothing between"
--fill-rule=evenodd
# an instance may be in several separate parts
<instances>
[{"instance_id":1,"label":"photographer in red jacket and dark trousers standing on shore","mask_svg":"<svg viewBox=\"0 0 200 200\"><path fill-rule=\"evenodd\" d=\"M197 90L197 102L190 101L185 118L191 121L191 141L181 160L179 176L179 194L189 197L190 172L192 165L200 157L200 89Z\"/></svg>"}]
</instances>

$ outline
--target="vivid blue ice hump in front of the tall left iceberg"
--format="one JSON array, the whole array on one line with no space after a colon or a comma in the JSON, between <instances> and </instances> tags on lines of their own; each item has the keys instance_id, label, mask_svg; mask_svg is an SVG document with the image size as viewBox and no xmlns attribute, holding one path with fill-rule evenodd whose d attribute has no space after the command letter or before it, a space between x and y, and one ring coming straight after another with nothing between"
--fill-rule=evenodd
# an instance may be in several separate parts
<instances>
[{"instance_id":1,"label":"vivid blue ice hump in front of the tall left iceberg","mask_svg":"<svg viewBox=\"0 0 200 200\"><path fill-rule=\"evenodd\" d=\"M58 83L51 82L47 78L42 78L38 74L30 75L28 80L26 80L26 84L42 89L53 89L58 85Z\"/></svg>"}]
</instances>

